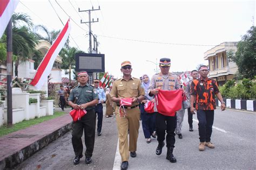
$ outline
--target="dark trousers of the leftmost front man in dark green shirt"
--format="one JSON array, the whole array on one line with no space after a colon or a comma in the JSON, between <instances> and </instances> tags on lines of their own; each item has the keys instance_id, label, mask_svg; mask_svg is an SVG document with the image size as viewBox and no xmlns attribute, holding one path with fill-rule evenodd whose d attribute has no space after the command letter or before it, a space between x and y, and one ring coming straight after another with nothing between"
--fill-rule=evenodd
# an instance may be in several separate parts
<instances>
[{"instance_id":1,"label":"dark trousers of the leftmost front man in dark green shirt","mask_svg":"<svg viewBox=\"0 0 256 170\"><path fill-rule=\"evenodd\" d=\"M85 157L92 157L95 142L96 114L95 110L86 110L87 114L80 121L72 123L72 145L75 155L83 155L82 136L86 146Z\"/></svg>"}]
</instances>

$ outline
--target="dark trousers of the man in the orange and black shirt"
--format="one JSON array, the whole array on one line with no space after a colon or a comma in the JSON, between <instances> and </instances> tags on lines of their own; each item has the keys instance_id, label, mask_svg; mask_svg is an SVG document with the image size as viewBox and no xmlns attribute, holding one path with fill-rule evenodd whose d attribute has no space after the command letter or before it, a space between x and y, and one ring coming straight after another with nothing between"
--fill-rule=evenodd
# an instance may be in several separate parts
<instances>
[{"instance_id":1,"label":"dark trousers of the man in the orange and black shirt","mask_svg":"<svg viewBox=\"0 0 256 170\"><path fill-rule=\"evenodd\" d=\"M200 142L211 141L214 110L197 110Z\"/></svg>"}]
</instances>

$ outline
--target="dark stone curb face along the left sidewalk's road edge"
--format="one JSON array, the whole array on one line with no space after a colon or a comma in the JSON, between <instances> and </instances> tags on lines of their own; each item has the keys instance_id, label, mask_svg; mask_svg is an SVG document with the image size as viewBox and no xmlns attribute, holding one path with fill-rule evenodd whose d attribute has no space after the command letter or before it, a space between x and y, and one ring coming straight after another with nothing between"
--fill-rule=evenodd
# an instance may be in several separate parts
<instances>
[{"instance_id":1,"label":"dark stone curb face along the left sidewalk's road edge","mask_svg":"<svg viewBox=\"0 0 256 170\"><path fill-rule=\"evenodd\" d=\"M9 155L3 160L0 160L0 169L14 168L18 164L21 164L21 162L23 162L24 160L31 157L31 155L33 155L34 153L41 150L43 147L47 146L52 141L56 140L58 137L63 136L70 129L71 123L66 124L62 128L59 128L58 130L44 136L43 138L35 141L29 146L22 148L20 151Z\"/></svg>"}]
</instances>

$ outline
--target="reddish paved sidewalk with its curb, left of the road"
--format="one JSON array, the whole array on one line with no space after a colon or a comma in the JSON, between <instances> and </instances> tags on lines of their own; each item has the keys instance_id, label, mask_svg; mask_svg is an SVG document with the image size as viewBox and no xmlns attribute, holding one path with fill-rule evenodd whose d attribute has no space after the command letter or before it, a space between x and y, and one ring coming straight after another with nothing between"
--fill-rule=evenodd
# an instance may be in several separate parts
<instances>
[{"instance_id":1,"label":"reddish paved sidewalk with its curb, left of the road","mask_svg":"<svg viewBox=\"0 0 256 170\"><path fill-rule=\"evenodd\" d=\"M68 132L72 122L69 110L63 116L0 137L0 169L15 167Z\"/></svg>"}]
</instances>

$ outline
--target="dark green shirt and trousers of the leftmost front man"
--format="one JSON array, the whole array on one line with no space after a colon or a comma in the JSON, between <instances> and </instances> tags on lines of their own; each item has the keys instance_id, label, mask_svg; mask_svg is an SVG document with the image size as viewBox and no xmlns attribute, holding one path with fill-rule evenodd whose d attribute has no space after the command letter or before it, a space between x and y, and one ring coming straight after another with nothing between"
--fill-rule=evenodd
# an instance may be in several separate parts
<instances>
[{"instance_id":1,"label":"dark green shirt and trousers of the leftmost front man","mask_svg":"<svg viewBox=\"0 0 256 170\"><path fill-rule=\"evenodd\" d=\"M76 104L80 105L99 99L99 97L97 90L93 86L86 83L85 86L78 85L71 90L69 101L74 101L75 99L77 99ZM85 109L87 114L79 121L72 122L72 145L76 157L81 157L83 155L83 131L86 146L85 157L92 157L96 126L96 114L94 108L94 106L87 107Z\"/></svg>"}]
</instances>

